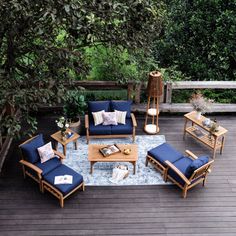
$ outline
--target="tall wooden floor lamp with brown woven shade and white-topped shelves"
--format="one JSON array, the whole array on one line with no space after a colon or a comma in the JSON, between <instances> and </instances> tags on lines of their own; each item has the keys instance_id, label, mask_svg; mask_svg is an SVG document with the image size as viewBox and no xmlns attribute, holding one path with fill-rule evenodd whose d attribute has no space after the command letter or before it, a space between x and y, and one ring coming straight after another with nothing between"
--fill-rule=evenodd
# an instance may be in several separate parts
<instances>
[{"instance_id":1,"label":"tall wooden floor lamp with brown woven shade and white-topped shelves","mask_svg":"<svg viewBox=\"0 0 236 236\"><path fill-rule=\"evenodd\" d=\"M148 86L148 102L146 108L146 116L144 123L144 131L148 134L157 134L159 132L158 115L159 102L163 94L162 75L159 71L152 71L149 74ZM148 118L151 117L152 122L148 124Z\"/></svg>"}]
</instances>

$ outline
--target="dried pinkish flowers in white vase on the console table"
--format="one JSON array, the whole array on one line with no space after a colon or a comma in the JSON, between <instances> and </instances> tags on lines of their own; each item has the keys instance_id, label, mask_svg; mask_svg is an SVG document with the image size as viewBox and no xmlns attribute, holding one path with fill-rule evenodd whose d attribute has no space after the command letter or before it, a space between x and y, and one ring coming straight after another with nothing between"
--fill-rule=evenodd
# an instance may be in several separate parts
<instances>
[{"instance_id":1,"label":"dried pinkish flowers in white vase on the console table","mask_svg":"<svg viewBox=\"0 0 236 236\"><path fill-rule=\"evenodd\" d=\"M196 111L196 119L200 120L202 114L211 111L213 100L204 97L201 92L198 91L192 94L190 103L193 106L193 110Z\"/></svg>"}]
</instances>

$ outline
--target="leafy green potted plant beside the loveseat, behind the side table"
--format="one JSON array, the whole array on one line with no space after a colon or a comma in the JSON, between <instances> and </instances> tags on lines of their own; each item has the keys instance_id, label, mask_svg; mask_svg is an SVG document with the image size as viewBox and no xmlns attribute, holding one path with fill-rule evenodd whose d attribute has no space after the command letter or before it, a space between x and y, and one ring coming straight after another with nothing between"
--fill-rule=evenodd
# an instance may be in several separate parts
<instances>
[{"instance_id":1,"label":"leafy green potted plant beside the loveseat, behind the side table","mask_svg":"<svg viewBox=\"0 0 236 236\"><path fill-rule=\"evenodd\" d=\"M74 132L80 132L80 115L84 114L86 102L84 95L80 91L69 91L63 107L65 116L69 121L69 127Z\"/></svg>"}]
</instances>

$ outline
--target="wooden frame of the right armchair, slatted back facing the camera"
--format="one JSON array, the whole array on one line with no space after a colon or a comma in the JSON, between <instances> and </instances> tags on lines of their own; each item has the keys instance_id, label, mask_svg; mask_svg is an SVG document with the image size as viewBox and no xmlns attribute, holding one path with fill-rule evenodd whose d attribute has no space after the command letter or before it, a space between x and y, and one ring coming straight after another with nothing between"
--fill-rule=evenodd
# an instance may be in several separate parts
<instances>
[{"instance_id":1,"label":"wooden frame of the right armchair, slatted back facing the camera","mask_svg":"<svg viewBox=\"0 0 236 236\"><path fill-rule=\"evenodd\" d=\"M198 157L194 155L189 150L186 150L186 154L192 158L193 160L196 160ZM183 198L187 197L187 191L194 187L195 185L202 182L203 186L205 186L207 174L211 172L210 167L214 160L209 161L205 165L201 166L200 168L196 169L190 178L188 179L178 168L176 168L171 162L165 161L167 168L164 171L164 180L167 181L170 179L173 183L175 183L178 187L180 187L183 192L182 196ZM172 169L183 181L184 185L181 185L179 182L177 182L175 179L173 179L170 175L168 175L168 170Z\"/></svg>"}]
</instances>

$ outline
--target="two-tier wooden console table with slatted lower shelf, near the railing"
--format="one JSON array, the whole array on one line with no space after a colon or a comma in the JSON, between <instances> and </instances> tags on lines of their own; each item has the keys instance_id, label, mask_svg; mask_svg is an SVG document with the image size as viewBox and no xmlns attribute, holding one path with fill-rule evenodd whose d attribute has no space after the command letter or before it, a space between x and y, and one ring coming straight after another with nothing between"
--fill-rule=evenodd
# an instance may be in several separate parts
<instances>
[{"instance_id":1,"label":"two-tier wooden console table with slatted lower shelf, near the railing","mask_svg":"<svg viewBox=\"0 0 236 236\"><path fill-rule=\"evenodd\" d=\"M206 117L201 116L200 119L196 118L196 112L192 111L184 115L185 124L184 124L184 136L186 133L190 134L194 139L202 142L207 147L213 150L213 159L215 158L216 151L219 149L220 154L222 154L224 143L225 143L225 135L228 132L222 126L218 127L217 132L210 132L210 128L203 125L203 121ZM191 125L188 125L188 122L191 122Z\"/></svg>"}]
</instances>

